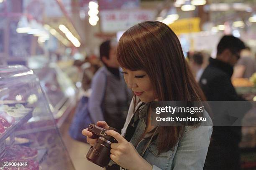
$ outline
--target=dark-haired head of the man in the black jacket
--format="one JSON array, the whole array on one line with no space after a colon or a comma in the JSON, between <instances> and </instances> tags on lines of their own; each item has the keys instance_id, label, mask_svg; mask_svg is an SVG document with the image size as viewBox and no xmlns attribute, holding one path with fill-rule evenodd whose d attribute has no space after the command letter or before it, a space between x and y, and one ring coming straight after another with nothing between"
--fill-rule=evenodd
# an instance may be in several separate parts
<instances>
[{"instance_id":1,"label":"dark-haired head of the man in the black jacket","mask_svg":"<svg viewBox=\"0 0 256 170\"><path fill-rule=\"evenodd\" d=\"M245 49L245 45L239 38L233 35L224 35L217 46L217 59L234 66L243 49Z\"/></svg>"}]
</instances>

